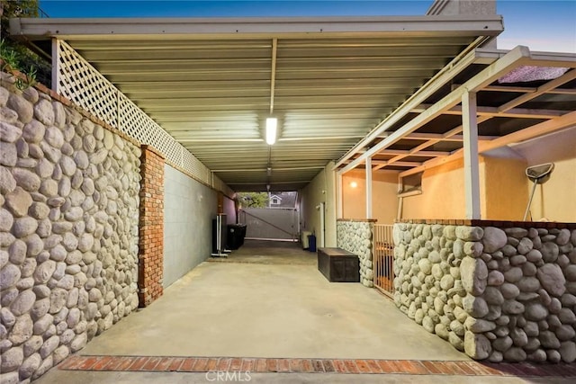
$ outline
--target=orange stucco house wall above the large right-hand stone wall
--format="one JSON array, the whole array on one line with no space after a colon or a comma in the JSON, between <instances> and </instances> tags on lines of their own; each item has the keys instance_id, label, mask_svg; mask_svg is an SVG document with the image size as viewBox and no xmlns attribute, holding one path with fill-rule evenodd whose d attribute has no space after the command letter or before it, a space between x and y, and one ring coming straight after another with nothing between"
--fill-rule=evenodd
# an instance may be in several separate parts
<instances>
[{"instance_id":1,"label":"orange stucco house wall above the large right-hand stone wall","mask_svg":"<svg viewBox=\"0 0 576 384\"><path fill-rule=\"evenodd\" d=\"M554 163L536 187L528 220L576 221L576 127L502 148L480 158L482 219L521 220L532 188L527 166ZM447 187L449 186L449 187ZM424 172L422 194L404 199L402 219L464 218L464 160Z\"/></svg>"}]
</instances>

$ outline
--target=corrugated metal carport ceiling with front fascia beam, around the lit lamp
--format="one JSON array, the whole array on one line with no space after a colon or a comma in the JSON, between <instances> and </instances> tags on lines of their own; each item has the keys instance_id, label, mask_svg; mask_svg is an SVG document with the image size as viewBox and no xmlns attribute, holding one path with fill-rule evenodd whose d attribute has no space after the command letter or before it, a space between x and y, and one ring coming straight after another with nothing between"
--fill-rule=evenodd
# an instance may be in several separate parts
<instances>
[{"instance_id":1,"label":"corrugated metal carport ceiling with front fascia beam, around the lit lamp","mask_svg":"<svg viewBox=\"0 0 576 384\"><path fill-rule=\"evenodd\" d=\"M503 30L498 15L12 22L46 51L66 40L235 191L301 189Z\"/></svg>"}]
</instances>

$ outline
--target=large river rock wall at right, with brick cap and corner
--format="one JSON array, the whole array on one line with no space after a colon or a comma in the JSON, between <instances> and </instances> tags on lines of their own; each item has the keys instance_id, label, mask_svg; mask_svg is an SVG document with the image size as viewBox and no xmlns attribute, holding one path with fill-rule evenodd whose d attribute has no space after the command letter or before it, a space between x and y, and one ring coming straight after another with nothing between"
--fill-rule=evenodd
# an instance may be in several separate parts
<instances>
[{"instance_id":1,"label":"large river rock wall at right, with brick cap and corner","mask_svg":"<svg viewBox=\"0 0 576 384\"><path fill-rule=\"evenodd\" d=\"M394 301L475 360L576 360L576 229L394 224Z\"/></svg>"}]
</instances>

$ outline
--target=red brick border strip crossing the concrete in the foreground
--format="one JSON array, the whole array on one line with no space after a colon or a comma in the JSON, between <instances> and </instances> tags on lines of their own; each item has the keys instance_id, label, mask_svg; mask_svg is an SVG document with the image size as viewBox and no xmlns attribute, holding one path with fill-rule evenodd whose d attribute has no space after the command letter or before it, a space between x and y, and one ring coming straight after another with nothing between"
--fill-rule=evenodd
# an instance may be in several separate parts
<instances>
[{"instance_id":1,"label":"red brick border strip crossing the concrete in the foreground","mask_svg":"<svg viewBox=\"0 0 576 384\"><path fill-rule=\"evenodd\" d=\"M485 363L374 359L274 359L245 357L92 356L68 357L65 371L153 371L253 373L367 373L456 376L576 378L576 364Z\"/></svg>"}]
</instances>

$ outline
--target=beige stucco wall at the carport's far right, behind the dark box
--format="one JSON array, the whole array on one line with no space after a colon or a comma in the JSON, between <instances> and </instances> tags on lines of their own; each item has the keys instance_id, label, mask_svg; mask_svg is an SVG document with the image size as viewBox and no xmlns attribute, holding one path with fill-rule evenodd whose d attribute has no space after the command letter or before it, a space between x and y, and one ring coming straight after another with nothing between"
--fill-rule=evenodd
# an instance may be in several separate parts
<instances>
[{"instance_id":1,"label":"beige stucco wall at the carport's far right, behind the dark box","mask_svg":"<svg viewBox=\"0 0 576 384\"><path fill-rule=\"evenodd\" d=\"M320 246L320 211L316 207L325 202L325 246L336 246L336 174L330 162L300 192L301 230L314 231Z\"/></svg>"}]
</instances>

